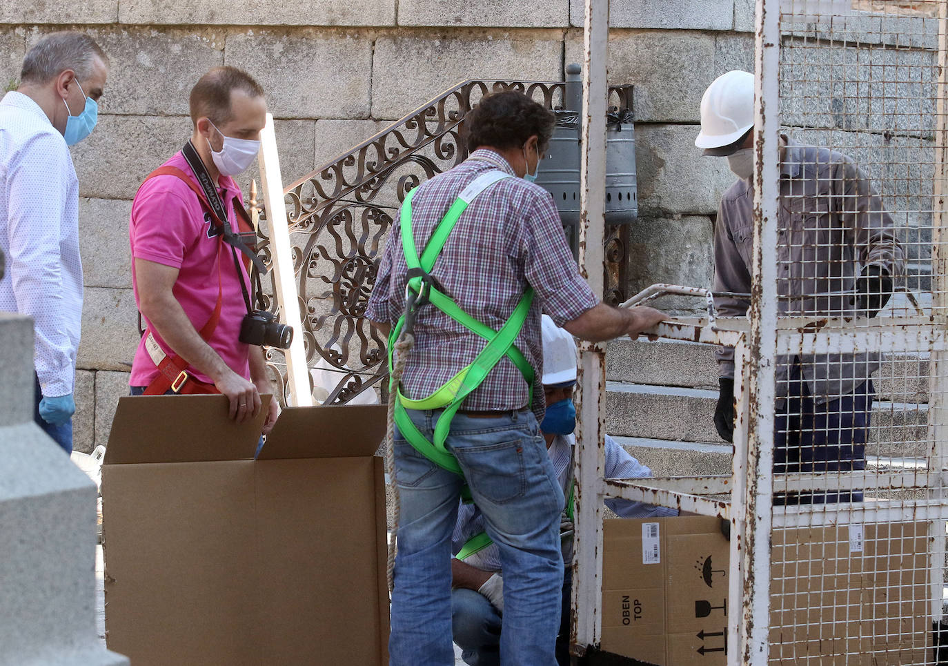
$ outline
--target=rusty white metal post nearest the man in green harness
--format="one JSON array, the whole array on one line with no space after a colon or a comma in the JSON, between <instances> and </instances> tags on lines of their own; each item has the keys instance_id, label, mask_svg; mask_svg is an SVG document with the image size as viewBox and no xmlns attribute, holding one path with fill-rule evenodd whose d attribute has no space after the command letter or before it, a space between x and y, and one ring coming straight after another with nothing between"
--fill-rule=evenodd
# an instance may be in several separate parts
<instances>
[{"instance_id":1,"label":"rusty white metal post nearest the man in green harness","mask_svg":"<svg viewBox=\"0 0 948 666\"><path fill-rule=\"evenodd\" d=\"M603 242L606 219L606 107L609 96L609 0L586 0L579 190L579 269L603 296ZM575 655L598 646L602 630L602 492L606 390L606 349L579 345L576 386L575 549L572 643Z\"/></svg>"}]
</instances>

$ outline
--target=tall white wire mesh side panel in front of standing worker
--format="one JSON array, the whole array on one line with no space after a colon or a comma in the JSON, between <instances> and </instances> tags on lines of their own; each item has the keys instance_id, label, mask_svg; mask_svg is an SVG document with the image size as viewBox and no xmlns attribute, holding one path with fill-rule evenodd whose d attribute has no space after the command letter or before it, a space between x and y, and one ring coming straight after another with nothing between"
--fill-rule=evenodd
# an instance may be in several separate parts
<instances>
[{"instance_id":1,"label":"tall white wire mesh side panel in front of standing worker","mask_svg":"<svg viewBox=\"0 0 948 666\"><path fill-rule=\"evenodd\" d=\"M779 155L762 176L779 193L761 250L778 299L771 663L948 663L933 632L945 4L765 2L780 11L782 130L758 146Z\"/></svg>"}]
</instances>

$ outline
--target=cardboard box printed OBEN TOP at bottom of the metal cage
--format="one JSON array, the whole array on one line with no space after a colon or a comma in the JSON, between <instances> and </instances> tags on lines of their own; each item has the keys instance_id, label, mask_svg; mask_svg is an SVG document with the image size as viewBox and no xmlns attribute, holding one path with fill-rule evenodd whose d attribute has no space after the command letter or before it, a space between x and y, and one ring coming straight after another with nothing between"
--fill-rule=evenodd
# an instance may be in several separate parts
<instances>
[{"instance_id":1,"label":"cardboard box printed OBEN TOP at bottom of the metal cage","mask_svg":"<svg viewBox=\"0 0 948 666\"><path fill-rule=\"evenodd\" d=\"M927 529L775 530L770 663L925 663ZM733 573L717 518L606 521L603 650L657 666L725 666Z\"/></svg>"}]
</instances>

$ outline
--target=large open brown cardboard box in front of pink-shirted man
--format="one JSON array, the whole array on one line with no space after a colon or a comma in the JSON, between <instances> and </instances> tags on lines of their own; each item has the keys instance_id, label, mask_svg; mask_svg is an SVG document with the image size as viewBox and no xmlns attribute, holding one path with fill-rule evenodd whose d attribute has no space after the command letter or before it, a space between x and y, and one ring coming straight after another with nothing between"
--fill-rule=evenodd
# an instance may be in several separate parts
<instances>
[{"instance_id":1,"label":"large open brown cardboard box in front of pink-shirted man","mask_svg":"<svg viewBox=\"0 0 948 666\"><path fill-rule=\"evenodd\" d=\"M102 468L106 631L136 666L388 663L385 408L121 398Z\"/></svg>"}]
</instances>

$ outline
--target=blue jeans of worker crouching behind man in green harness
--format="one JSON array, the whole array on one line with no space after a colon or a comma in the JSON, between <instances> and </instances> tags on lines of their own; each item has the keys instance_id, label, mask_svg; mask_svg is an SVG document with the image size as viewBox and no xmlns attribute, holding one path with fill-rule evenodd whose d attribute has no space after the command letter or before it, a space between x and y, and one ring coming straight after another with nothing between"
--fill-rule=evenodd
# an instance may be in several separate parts
<instances>
[{"instance_id":1,"label":"blue jeans of worker crouching behind man in green harness","mask_svg":"<svg viewBox=\"0 0 948 666\"><path fill-rule=\"evenodd\" d=\"M573 572L563 576L556 663L570 666L570 593ZM451 590L451 631L468 666L500 666L501 614L479 592L463 588Z\"/></svg>"}]
</instances>

